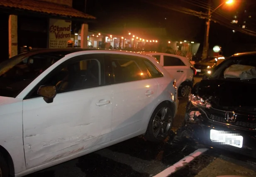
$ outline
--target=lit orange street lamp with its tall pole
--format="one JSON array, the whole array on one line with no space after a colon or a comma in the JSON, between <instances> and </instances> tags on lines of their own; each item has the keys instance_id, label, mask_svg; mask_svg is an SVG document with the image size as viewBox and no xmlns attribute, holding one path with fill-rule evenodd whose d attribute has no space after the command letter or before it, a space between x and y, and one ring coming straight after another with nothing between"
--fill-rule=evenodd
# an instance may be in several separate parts
<instances>
[{"instance_id":1,"label":"lit orange street lamp with its tall pole","mask_svg":"<svg viewBox=\"0 0 256 177\"><path fill-rule=\"evenodd\" d=\"M207 21L207 26L206 26L206 33L205 33L205 43L204 43L204 47L203 47L203 53L202 53L202 57L206 58L207 57L207 53L208 53L208 43L209 43L209 31L210 31L210 21L211 21L211 15L213 12L215 12L217 9L219 9L219 7L221 7L224 4L232 4L233 0L226 0L224 2L222 2L218 7L216 7L213 11L211 11L211 7L209 5L209 10L208 10L208 21Z\"/></svg>"}]
</instances>

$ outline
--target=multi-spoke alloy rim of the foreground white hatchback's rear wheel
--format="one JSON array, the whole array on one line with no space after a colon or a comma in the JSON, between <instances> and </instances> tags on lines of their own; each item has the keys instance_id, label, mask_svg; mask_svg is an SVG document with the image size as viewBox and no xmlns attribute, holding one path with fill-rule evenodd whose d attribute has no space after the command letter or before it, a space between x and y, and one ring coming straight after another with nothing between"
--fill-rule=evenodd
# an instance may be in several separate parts
<instances>
[{"instance_id":1,"label":"multi-spoke alloy rim of the foreground white hatchback's rear wheel","mask_svg":"<svg viewBox=\"0 0 256 177\"><path fill-rule=\"evenodd\" d=\"M165 137L173 123L171 109L163 107L159 109L153 120L153 133L156 139Z\"/></svg>"}]
</instances>

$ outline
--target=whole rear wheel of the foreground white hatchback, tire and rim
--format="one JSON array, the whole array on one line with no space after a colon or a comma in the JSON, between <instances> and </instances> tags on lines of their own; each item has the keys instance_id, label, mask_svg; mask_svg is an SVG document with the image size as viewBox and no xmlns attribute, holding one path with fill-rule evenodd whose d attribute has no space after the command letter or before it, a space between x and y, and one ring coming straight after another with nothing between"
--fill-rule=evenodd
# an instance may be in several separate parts
<instances>
[{"instance_id":1,"label":"whole rear wheel of the foreground white hatchback, tire and rim","mask_svg":"<svg viewBox=\"0 0 256 177\"><path fill-rule=\"evenodd\" d=\"M159 104L153 112L145 134L145 138L151 142L162 142L168 136L173 125L173 113L168 103Z\"/></svg>"}]
</instances>

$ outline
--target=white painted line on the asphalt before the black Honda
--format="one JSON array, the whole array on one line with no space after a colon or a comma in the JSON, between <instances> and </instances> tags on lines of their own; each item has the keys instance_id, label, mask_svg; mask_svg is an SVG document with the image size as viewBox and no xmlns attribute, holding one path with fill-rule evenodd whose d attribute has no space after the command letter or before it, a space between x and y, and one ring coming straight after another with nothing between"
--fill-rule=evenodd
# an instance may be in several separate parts
<instances>
[{"instance_id":1,"label":"white painted line on the asphalt before the black Honda","mask_svg":"<svg viewBox=\"0 0 256 177\"><path fill-rule=\"evenodd\" d=\"M169 175L173 174L174 172L178 171L180 168L185 166L186 164L190 163L194 160L197 156L200 156L202 153L207 151L208 149L197 149L195 152L190 153L188 156L185 156L183 159L178 161L177 163L173 164L172 166L166 168L162 172L158 173L154 177L168 177Z\"/></svg>"}]
</instances>

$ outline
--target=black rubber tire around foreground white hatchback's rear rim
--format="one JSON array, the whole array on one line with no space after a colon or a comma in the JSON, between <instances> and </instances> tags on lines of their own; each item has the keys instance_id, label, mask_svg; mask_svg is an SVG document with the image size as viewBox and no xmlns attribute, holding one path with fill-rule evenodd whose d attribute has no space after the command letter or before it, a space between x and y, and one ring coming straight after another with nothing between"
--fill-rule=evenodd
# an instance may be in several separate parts
<instances>
[{"instance_id":1,"label":"black rubber tire around foreground white hatchback's rear rim","mask_svg":"<svg viewBox=\"0 0 256 177\"><path fill-rule=\"evenodd\" d=\"M163 130L163 128L161 128L161 130L159 130L159 131L163 130L165 132L164 133L161 132L162 135L161 136L158 135L156 137L155 134L154 134L154 123L155 123L154 120L155 120L155 117L158 116L159 111L161 111L162 109L165 109L165 110L168 111L168 113L166 113L167 114L167 119L166 120L169 121L169 119L170 119L170 123L168 122L168 125L166 126L166 130ZM166 123L167 123L167 121L166 121ZM168 104L167 102L163 102L163 103L159 104L156 107L156 109L154 110L154 112L152 113L151 118L149 120L149 125L148 125L148 128L147 128L147 131L146 131L144 137L145 137L146 140L148 140L150 142L154 142L154 143L162 142L164 139L166 139L166 137L168 137L169 132L172 128L172 125L173 125L173 111L172 111L172 108L171 108L171 104Z\"/></svg>"}]
</instances>

